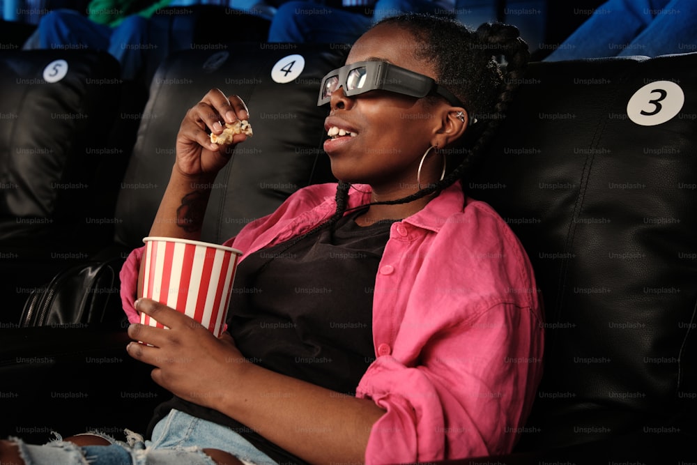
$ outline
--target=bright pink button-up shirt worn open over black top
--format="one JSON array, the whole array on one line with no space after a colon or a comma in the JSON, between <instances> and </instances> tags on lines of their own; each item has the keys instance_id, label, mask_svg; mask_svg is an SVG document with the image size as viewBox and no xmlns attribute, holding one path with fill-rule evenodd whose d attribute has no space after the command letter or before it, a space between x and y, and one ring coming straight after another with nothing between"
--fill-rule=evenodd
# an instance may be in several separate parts
<instances>
[{"instance_id":1,"label":"bright pink button-up shirt worn open over black top","mask_svg":"<svg viewBox=\"0 0 697 465\"><path fill-rule=\"evenodd\" d=\"M369 186L356 188L369 192ZM302 234L335 211L335 184L294 193L226 241L248 254ZM349 206L369 202L352 190ZM142 249L121 270L129 321ZM507 224L459 183L392 224L375 278L376 360L357 396L386 410L366 463L510 452L542 376L542 310L533 268Z\"/></svg>"}]
</instances>

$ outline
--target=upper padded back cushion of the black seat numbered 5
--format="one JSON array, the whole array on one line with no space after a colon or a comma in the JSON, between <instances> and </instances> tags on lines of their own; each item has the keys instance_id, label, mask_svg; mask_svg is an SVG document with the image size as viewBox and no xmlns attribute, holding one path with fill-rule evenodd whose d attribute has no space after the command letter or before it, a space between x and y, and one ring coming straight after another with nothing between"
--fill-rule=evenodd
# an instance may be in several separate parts
<instances>
[{"instance_id":1,"label":"upper padded back cushion of the black seat numbered 5","mask_svg":"<svg viewBox=\"0 0 697 465\"><path fill-rule=\"evenodd\" d=\"M120 90L118 63L88 50L3 50L0 239L85 224Z\"/></svg>"}]
</instances>

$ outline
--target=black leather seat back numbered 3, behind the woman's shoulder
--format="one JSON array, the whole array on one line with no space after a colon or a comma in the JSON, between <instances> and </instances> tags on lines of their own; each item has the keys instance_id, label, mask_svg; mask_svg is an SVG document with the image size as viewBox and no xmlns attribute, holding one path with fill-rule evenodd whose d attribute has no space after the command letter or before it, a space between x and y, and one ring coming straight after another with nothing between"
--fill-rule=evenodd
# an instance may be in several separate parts
<instances>
[{"instance_id":1,"label":"black leather seat back numbered 3, behind the woman's shoulder","mask_svg":"<svg viewBox=\"0 0 697 465\"><path fill-rule=\"evenodd\" d=\"M694 416L696 119L697 54L532 63L468 181L521 238L544 296L522 448Z\"/></svg>"}]
</instances>

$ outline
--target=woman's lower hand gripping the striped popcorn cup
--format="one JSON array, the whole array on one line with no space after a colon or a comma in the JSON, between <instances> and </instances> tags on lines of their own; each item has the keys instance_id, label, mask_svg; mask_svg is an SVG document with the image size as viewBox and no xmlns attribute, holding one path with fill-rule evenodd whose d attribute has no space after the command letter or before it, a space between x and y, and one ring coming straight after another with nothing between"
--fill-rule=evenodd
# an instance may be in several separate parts
<instances>
[{"instance_id":1,"label":"woman's lower hand gripping the striped popcorn cup","mask_svg":"<svg viewBox=\"0 0 697 465\"><path fill-rule=\"evenodd\" d=\"M155 366L155 383L194 404L215 409L224 402L231 383L239 381L240 368L247 365L231 335L217 338L194 319L155 300L137 300L136 310L169 328L140 323L128 327L128 335L142 344L131 342L126 351Z\"/></svg>"}]
</instances>

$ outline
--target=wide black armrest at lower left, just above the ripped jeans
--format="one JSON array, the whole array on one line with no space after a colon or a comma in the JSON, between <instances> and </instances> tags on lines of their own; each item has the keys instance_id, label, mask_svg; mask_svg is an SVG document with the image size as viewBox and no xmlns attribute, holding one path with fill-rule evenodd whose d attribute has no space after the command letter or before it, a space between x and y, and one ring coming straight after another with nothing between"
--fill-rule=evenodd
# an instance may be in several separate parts
<instances>
[{"instance_id":1,"label":"wide black armrest at lower left, just above the ripped jeans","mask_svg":"<svg viewBox=\"0 0 697 465\"><path fill-rule=\"evenodd\" d=\"M0 437L144 433L155 406L171 397L150 365L128 356L125 328L12 328L0 340Z\"/></svg>"}]
</instances>

